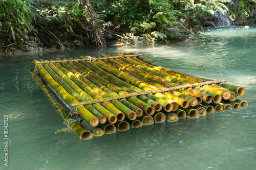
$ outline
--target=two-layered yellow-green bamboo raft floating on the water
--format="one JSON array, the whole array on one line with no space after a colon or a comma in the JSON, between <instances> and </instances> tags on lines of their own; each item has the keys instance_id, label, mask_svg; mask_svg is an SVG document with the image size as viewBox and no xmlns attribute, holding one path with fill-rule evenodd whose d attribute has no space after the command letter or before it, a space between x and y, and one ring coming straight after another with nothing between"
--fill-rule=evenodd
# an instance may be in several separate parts
<instances>
[{"instance_id":1,"label":"two-layered yellow-green bamboo raft floating on the water","mask_svg":"<svg viewBox=\"0 0 256 170\"><path fill-rule=\"evenodd\" d=\"M142 56L33 60L31 75L81 139L248 106L237 99L243 87L183 74Z\"/></svg>"}]
</instances>

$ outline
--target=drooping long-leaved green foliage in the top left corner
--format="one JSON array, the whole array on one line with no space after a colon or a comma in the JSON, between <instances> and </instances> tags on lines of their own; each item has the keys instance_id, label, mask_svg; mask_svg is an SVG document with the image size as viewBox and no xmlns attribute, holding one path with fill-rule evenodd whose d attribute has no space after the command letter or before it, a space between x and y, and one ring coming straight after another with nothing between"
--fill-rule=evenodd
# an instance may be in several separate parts
<instances>
[{"instance_id":1,"label":"drooping long-leaved green foliage in the top left corner","mask_svg":"<svg viewBox=\"0 0 256 170\"><path fill-rule=\"evenodd\" d=\"M28 38L34 30L30 22L32 2L1 0L0 7L0 37L2 39L11 37L20 48L23 48L24 38Z\"/></svg>"}]
</instances>

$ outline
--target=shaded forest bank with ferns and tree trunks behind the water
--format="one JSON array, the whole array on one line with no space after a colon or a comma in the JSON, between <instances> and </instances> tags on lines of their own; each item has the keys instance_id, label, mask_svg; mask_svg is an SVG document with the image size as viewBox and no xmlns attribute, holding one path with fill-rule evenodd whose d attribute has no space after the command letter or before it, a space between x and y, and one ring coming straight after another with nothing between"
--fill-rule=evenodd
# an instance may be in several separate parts
<instances>
[{"instance_id":1,"label":"shaded forest bank with ferns and tree trunks behind the water","mask_svg":"<svg viewBox=\"0 0 256 170\"><path fill-rule=\"evenodd\" d=\"M255 0L0 0L0 55L194 41L205 27L255 25Z\"/></svg>"}]
</instances>

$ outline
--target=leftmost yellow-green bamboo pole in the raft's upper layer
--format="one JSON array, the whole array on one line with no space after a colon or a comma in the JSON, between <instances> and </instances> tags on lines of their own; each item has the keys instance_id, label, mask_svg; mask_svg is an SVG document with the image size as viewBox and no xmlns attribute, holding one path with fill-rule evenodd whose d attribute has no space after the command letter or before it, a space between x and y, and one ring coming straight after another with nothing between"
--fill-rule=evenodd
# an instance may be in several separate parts
<instances>
[{"instance_id":1,"label":"leftmost yellow-green bamboo pole in the raft's upper layer","mask_svg":"<svg viewBox=\"0 0 256 170\"><path fill-rule=\"evenodd\" d=\"M33 63L37 62L37 60L33 60ZM42 67L41 64L36 64L37 71L41 76L45 78L48 84L53 87L61 96L62 98L67 101L69 104L78 103L78 101L69 94L62 86L60 86L52 77L51 75ZM99 119L95 117L91 112L89 112L83 106L77 106L76 111L80 116L86 119L90 125L97 126L99 124Z\"/></svg>"}]
</instances>

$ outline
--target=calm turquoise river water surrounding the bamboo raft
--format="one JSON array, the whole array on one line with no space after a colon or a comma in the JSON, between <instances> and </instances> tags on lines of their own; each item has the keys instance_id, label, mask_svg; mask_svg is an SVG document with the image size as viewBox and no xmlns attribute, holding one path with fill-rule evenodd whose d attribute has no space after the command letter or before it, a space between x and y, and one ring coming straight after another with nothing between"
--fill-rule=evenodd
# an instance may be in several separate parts
<instances>
[{"instance_id":1,"label":"calm turquoise river water surrounding the bamboo raft","mask_svg":"<svg viewBox=\"0 0 256 170\"><path fill-rule=\"evenodd\" d=\"M208 30L196 42L20 55L0 62L0 169L256 169L256 27ZM247 108L80 140L30 75L33 59L134 52L190 75L243 86Z\"/></svg>"}]
</instances>

